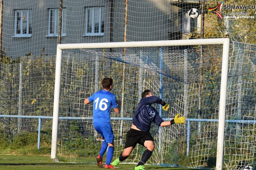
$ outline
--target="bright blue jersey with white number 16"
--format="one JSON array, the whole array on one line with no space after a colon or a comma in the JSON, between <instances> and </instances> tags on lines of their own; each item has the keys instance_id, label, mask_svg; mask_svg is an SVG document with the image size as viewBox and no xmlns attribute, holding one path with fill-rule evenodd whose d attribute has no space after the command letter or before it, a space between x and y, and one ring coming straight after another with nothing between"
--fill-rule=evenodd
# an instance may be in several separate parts
<instances>
[{"instance_id":1,"label":"bright blue jersey with white number 16","mask_svg":"<svg viewBox=\"0 0 256 170\"><path fill-rule=\"evenodd\" d=\"M93 101L93 123L110 123L110 109L117 108L116 96L107 90L101 90L88 99Z\"/></svg>"}]
</instances>

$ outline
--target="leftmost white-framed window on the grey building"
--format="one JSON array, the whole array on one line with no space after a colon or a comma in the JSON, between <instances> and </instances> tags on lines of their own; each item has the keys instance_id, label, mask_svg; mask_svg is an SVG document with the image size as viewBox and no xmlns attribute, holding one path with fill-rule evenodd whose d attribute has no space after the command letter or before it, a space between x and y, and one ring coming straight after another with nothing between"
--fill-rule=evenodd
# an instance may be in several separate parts
<instances>
[{"instance_id":1,"label":"leftmost white-framed window on the grey building","mask_svg":"<svg viewBox=\"0 0 256 170\"><path fill-rule=\"evenodd\" d=\"M29 10L15 10L15 33L13 37L31 37L32 29Z\"/></svg>"}]
</instances>

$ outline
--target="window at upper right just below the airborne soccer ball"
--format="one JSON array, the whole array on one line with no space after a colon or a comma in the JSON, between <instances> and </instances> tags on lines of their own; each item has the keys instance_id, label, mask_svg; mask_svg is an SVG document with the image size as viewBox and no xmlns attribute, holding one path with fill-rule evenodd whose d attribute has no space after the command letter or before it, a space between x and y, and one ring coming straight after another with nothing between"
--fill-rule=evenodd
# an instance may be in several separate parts
<instances>
[{"instance_id":1,"label":"window at upper right just below the airborne soccer ball","mask_svg":"<svg viewBox=\"0 0 256 170\"><path fill-rule=\"evenodd\" d=\"M197 28L197 17L193 19L189 17L188 11L180 11L180 24L181 24L181 32L182 33L193 33Z\"/></svg>"}]
</instances>

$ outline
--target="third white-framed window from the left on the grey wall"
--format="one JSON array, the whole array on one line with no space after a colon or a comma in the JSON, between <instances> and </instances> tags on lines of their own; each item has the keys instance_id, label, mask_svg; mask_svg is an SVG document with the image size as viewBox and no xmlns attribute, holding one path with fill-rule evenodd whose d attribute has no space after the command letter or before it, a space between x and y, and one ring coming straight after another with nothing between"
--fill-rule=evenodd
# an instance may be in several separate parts
<instances>
[{"instance_id":1,"label":"third white-framed window from the left on the grey wall","mask_svg":"<svg viewBox=\"0 0 256 170\"><path fill-rule=\"evenodd\" d=\"M102 7L85 9L85 36L103 36L104 21L102 20Z\"/></svg>"}]
</instances>

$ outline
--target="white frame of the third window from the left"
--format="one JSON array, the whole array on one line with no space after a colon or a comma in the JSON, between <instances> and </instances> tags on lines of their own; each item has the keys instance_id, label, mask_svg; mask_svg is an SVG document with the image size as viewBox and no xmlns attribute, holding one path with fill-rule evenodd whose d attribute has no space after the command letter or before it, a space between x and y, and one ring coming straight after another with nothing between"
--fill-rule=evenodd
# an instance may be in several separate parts
<instances>
[{"instance_id":1,"label":"white frame of the third window from the left","mask_svg":"<svg viewBox=\"0 0 256 170\"><path fill-rule=\"evenodd\" d=\"M94 10L95 9L100 9L99 10L99 33L94 33ZM102 24L102 11L104 9L104 6L97 6L97 7L86 7L85 8L85 33L83 36L104 36L104 32L101 32L101 24ZM92 11L92 16L90 19L92 19L92 32L87 33L87 24L88 24L88 11Z\"/></svg>"}]
</instances>

